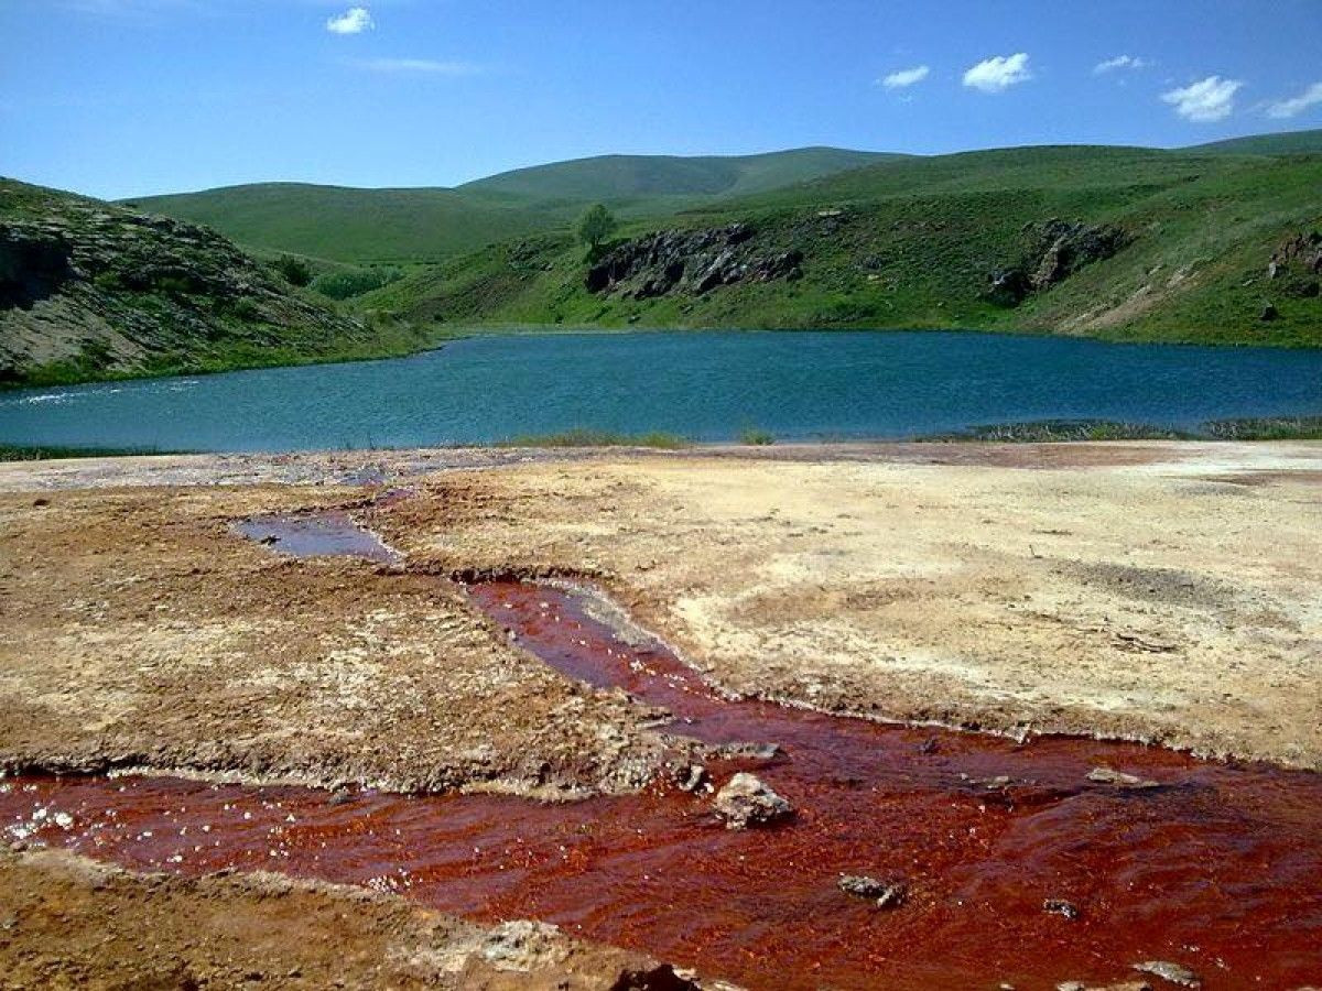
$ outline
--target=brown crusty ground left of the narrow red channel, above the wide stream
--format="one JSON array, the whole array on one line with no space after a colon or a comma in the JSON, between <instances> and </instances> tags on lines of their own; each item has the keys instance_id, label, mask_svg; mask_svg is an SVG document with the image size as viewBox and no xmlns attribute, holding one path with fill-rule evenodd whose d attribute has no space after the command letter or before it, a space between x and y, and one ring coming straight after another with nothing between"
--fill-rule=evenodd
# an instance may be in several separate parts
<instances>
[{"instance_id":1,"label":"brown crusty ground left of the narrow red channel, above the wide stream","mask_svg":"<svg viewBox=\"0 0 1322 991\"><path fill-rule=\"evenodd\" d=\"M461 591L233 530L362 490L0 494L0 769L398 790L635 790L648 710L513 647Z\"/></svg>"}]
</instances>

